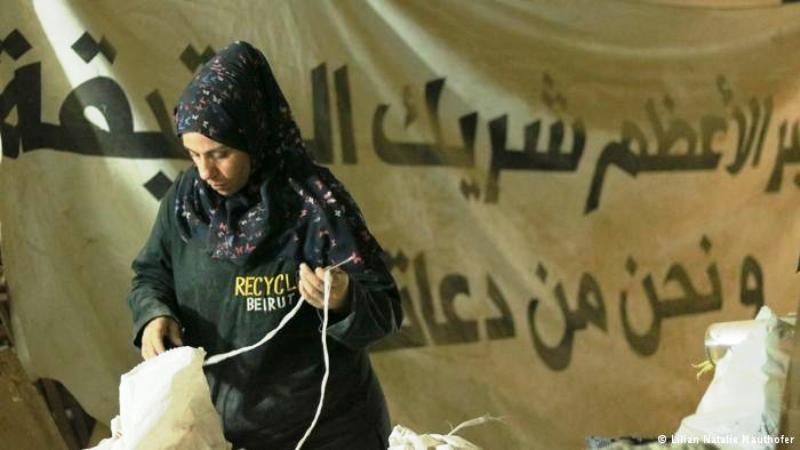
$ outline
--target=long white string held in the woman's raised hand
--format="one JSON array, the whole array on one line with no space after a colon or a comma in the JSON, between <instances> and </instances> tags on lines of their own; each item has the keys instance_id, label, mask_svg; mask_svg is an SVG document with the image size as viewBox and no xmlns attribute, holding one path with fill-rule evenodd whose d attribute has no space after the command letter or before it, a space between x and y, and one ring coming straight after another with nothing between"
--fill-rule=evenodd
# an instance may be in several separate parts
<instances>
[{"instance_id":1,"label":"long white string held in the woman's raised hand","mask_svg":"<svg viewBox=\"0 0 800 450\"><path fill-rule=\"evenodd\" d=\"M322 317L322 338L321 339L322 339L322 358L323 358L323 360L325 362L325 374L322 375L322 383L320 385L320 393L319 393L319 403L317 404L317 412L314 414L314 420L311 421L311 425L309 425L309 427L306 430L305 434L300 439L300 442L297 443L297 446L295 447L295 450L300 450L300 448L306 442L306 439L308 439L308 437L311 435L311 432L314 430L314 427L317 425L317 420L319 420L319 416L322 413L322 405L323 405L324 400L325 400L325 390L326 390L326 388L328 386L328 376L330 375L330 371L331 371L330 370L331 369L330 355L328 354L328 310L329 310L329 307L330 307L330 300L331 300L331 271L333 269L341 266L341 265L349 263L352 260L353 260L353 257L351 256L351 257L345 259L344 261L342 261L342 262L340 262L340 263L338 263L338 264L336 264L334 266L326 268L325 272L324 272L324 275L322 277L322 281L323 281L323 300L322 300L323 317ZM275 329L271 330L269 333L267 333L267 335L264 336L260 341L256 342L253 345L248 345L247 347L242 347L240 349L233 350L233 351L230 351L230 352L227 352L227 353L223 353L223 354L220 354L220 355L214 355L214 356L208 358L206 360L206 362L203 363L203 365L204 366L210 366L210 365L213 365L213 364L217 364L217 363L222 362L222 361L224 361L224 360L226 360L228 358L232 358L232 357L234 357L236 355L242 354L244 352L248 352L248 351L250 351L250 350L252 350L252 349L254 349L256 347L259 347L261 345L266 344L267 342L269 342L278 333L278 331L281 330L281 328L283 328L286 325L286 323L289 322L289 320L292 319L292 317L294 317L297 314L297 312L300 310L300 307L303 306L303 303L305 303L304 300L306 300L306 299L301 296L300 300L298 300L298 302L297 302L297 305L295 305L295 307L292 308L292 310L289 311L288 314L283 316L283 318L281 319L280 323L278 323L278 326L275 327Z\"/></svg>"}]
</instances>

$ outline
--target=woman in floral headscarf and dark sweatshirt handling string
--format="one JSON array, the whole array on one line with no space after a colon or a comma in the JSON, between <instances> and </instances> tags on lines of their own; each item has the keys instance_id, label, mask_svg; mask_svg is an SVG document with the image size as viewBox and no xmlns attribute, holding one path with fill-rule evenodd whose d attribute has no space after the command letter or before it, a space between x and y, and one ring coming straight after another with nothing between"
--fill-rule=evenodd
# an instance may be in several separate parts
<instances>
[{"instance_id":1,"label":"woman in floral headscarf and dark sweatshirt handling string","mask_svg":"<svg viewBox=\"0 0 800 450\"><path fill-rule=\"evenodd\" d=\"M323 269L332 273L331 373L304 448L385 449L389 417L366 346L402 320L381 248L344 187L305 150L269 65L234 42L205 64L176 108L194 164L161 202L133 262L128 302L144 358L171 345L219 354L206 368L234 448L294 448L314 416L324 371Z\"/></svg>"}]
</instances>

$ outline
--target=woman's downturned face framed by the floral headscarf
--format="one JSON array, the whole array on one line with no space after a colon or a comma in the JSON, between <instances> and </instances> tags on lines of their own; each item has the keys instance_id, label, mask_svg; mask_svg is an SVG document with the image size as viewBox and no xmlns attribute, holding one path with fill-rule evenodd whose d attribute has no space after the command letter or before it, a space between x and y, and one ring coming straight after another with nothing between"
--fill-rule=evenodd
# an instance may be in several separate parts
<instances>
[{"instance_id":1,"label":"woman's downturned face framed by the floral headscarf","mask_svg":"<svg viewBox=\"0 0 800 450\"><path fill-rule=\"evenodd\" d=\"M224 196L239 192L250 177L250 155L200 133L181 135L200 178Z\"/></svg>"}]
</instances>

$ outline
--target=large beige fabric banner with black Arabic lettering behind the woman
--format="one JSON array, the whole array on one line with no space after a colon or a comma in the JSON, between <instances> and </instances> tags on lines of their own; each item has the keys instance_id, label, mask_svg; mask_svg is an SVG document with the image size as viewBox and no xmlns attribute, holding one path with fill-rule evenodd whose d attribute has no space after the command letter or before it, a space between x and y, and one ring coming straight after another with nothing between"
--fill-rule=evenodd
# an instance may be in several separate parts
<instances>
[{"instance_id":1,"label":"large beige fabric banner with black Arabic lettering behind the woman","mask_svg":"<svg viewBox=\"0 0 800 450\"><path fill-rule=\"evenodd\" d=\"M241 39L387 251L395 423L502 417L463 432L489 449L669 434L711 323L796 309L800 5L664 3L0 0L26 370L116 413L130 263L189 165L172 109Z\"/></svg>"}]
</instances>

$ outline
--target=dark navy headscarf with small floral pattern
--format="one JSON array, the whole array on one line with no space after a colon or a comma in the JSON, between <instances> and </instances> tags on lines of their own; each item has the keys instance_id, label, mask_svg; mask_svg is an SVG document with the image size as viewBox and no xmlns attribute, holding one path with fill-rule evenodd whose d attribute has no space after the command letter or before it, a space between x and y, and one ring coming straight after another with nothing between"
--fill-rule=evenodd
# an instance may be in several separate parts
<instances>
[{"instance_id":1,"label":"dark navy headscarf with small floral pattern","mask_svg":"<svg viewBox=\"0 0 800 450\"><path fill-rule=\"evenodd\" d=\"M174 211L182 238L205 239L209 255L244 265L270 236L276 221L309 220L310 263L379 256L350 194L317 166L264 55L236 41L208 61L176 108L178 134L198 132L250 155L252 171L241 191L222 196L192 166L178 181ZM277 216L276 216L277 211ZM309 248L310 246L310 248Z\"/></svg>"}]
</instances>

